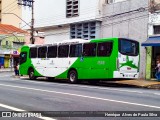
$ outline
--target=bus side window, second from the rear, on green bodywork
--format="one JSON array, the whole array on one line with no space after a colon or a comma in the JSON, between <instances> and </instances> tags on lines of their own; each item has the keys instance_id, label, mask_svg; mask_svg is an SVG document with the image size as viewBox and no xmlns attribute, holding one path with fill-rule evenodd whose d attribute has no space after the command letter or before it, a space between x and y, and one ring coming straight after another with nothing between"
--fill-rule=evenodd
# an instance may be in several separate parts
<instances>
[{"instance_id":1,"label":"bus side window, second from the rear, on green bodywork","mask_svg":"<svg viewBox=\"0 0 160 120\"><path fill-rule=\"evenodd\" d=\"M83 45L83 56L96 56L96 43L86 43Z\"/></svg>"}]
</instances>

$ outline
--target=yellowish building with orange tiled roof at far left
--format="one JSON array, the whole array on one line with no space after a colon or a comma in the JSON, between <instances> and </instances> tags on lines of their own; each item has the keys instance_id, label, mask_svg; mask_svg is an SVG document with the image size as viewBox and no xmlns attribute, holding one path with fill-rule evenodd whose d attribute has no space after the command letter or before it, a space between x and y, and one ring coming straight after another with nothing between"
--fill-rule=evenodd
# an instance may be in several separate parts
<instances>
[{"instance_id":1,"label":"yellowish building with orange tiled roof at far left","mask_svg":"<svg viewBox=\"0 0 160 120\"><path fill-rule=\"evenodd\" d=\"M10 67L18 62L18 49L25 43L28 33L12 25L0 24L0 67Z\"/></svg>"}]
</instances>

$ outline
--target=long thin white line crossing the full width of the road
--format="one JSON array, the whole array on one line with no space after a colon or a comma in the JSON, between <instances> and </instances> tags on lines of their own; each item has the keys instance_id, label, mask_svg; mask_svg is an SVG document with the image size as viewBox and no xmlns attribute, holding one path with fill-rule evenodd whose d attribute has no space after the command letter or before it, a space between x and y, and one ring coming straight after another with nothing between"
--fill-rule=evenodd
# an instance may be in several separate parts
<instances>
[{"instance_id":1,"label":"long thin white line crossing the full width of the road","mask_svg":"<svg viewBox=\"0 0 160 120\"><path fill-rule=\"evenodd\" d=\"M0 84L0 86L34 90L34 91L41 91L41 92L48 92L48 93L55 93L55 94L62 94L62 95L69 95L69 96L76 96L76 97L83 97L83 98L90 98L90 99L95 99L95 100L110 101L110 102L116 102L116 103L123 103L123 104L129 104L129 105L136 105L136 106L143 106L143 107L160 109L160 106L132 103L132 102L119 101L119 100L114 100L114 99L98 98L98 97L92 97L92 96L86 96L86 95L79 95L79 94L72 94L72 93L65 93L65 92L57 92L57 91L50 91L50 90L42 90L42 89L36 89L36 88L27 88L27 87L21 87L21 86L12 86L12 85L5 85L5 84Z\"/></svg>"}]
</instances>

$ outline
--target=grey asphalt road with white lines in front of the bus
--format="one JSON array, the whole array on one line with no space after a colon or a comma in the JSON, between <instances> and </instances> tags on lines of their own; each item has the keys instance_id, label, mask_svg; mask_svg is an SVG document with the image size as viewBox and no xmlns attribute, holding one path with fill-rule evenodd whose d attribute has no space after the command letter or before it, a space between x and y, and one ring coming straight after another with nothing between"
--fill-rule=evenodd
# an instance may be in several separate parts
<instances>
[{"instance_id":1,"label":"grey asphalt road with white lines in front of the bus","mask_svg":"<svg viewBox=\"0 0 160 120\"><path fill-rule=\"evenodd\" d=\"M111 84L93 86L86 83L75 85L62 81L51 82L43 79L31 81L26 78L15 78L13 74L14 73L11 72L0 73L0 111L2 112L72 111L73 113L76 111L108 111L105 112L106 114L104 114L104 117L53 117L46 115L45 118L42 118L38 116L38 114L35 118L25 118L47 120L160 119L160 117L147 116L151 112L153 114L150 114L150 116L160 115L159 90L133 88L129 86L113 86ZM120 113L121 115L122 113L128 113L127 115L133 116L135 112L138 116L146 116L113 117L115 114L111 113L115 113L116 111L117 114ZM157 113L157 111L159 112ZM101 114L98 112L96 112L96 115ZM84 113L79 112L78 114ZM109 115L112 117L108 117ZM15 117L14 119L19 118Z\"/></svg>"}]
</instances>

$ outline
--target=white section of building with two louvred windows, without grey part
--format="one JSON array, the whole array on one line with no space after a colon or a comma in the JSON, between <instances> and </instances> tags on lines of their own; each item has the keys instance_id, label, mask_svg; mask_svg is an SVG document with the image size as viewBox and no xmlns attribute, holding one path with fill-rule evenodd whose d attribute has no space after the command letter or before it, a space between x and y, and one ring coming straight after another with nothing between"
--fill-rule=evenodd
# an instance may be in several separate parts
<instances>
[{"instance_id":1,"label":"white section of building with two louvred windows, without grey part","mask_svg":"<svg viewBox=\"0 0 160 120\"><path fill-rule=\"evenodd\" d=\"M48 8L40 10L40 6L36 7L40 3L46 4ZM101 1L52 0L45 2L40 0L37 4L35 1L35 27L37 31L45 32L47 44L70 38L92 39L100 37L101 20L99 17L101 13L99 6L102 8ZM89 7L89 4L92 7ZM50 10L54 12L50 12ZM39 17L36 11L41 11L43 16ZM46 13L50 13L50 15L47 16Z\"/></svg>"}]
</instances>

